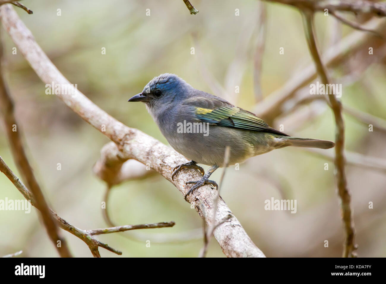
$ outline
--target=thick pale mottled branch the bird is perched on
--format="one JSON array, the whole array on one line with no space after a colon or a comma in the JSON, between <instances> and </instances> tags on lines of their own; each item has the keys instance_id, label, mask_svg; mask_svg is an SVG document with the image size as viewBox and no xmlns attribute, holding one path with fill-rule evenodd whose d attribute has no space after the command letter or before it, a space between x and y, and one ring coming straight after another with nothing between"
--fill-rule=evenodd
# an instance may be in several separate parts
<instances>
[{"instance_id":1,"label":"thick pale mottled branch the bird is perched on","mask_svg":"<svg viewBox=\"0 0 386 284\"><path fill-rule=\"evenodd\" d=\"M66 86L70 84L44 54L30 30L25 27L12 7L9 5L0 7L0 17L12 40L44 83L54 82ZM119 161L116 159L115 162L123 163L128 159L136 159L143 164L148 164L174 184L182 196L185 196L188 191L187 181L200 179L196 171L186 171L179 174L179 178L173 181L171 174L174 166L187 161L183 156L153 137L115 120L77 89L73 88L71 95L58 94L56 96L86 122L117 144L120 155ZM190 203L195 205L196 211L203 218L203 211L199 208L199 204L204 204L205 211L212 212L216 195L209 185L205 185L195 191L195 194L189 195L188 199ZM228 226L220 226L214 230L214 236L225 255L228 257L264 257L264 254L252 242L222 199L218 201L217 211L216 223L219 223L227 215L232 215L232 218L228 220ZM206 221L208 224L209 221Z\"/></svg>"}]
</instances>

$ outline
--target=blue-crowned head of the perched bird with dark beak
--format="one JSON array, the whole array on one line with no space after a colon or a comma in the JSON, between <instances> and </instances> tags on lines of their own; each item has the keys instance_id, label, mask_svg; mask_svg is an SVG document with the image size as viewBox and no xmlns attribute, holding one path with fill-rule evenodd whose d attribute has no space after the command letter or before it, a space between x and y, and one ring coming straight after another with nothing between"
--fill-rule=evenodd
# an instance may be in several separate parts
<instances>
[{"instance_id":1,"label":"blue-crowned head of the perched bird with dark beak","mask_svg":"<svg viewBox=\"0 0 386 284\"><path fill-rule=\"evenodd\" d=\"M146 84L141 93L128 101L142 101L150 108L173 103L176 96L181 97L193 89L175 74L165 73L154 77Z\"/></svg>"}]
</instances>

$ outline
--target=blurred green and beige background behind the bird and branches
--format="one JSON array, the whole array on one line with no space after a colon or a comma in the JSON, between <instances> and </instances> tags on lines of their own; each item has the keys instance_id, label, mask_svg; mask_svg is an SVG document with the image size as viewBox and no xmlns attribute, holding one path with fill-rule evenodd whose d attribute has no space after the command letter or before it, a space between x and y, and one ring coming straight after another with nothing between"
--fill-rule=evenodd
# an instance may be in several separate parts
<instances>
[{"instance_id":1,"label":"blurred green and beige background behind the bird and branches","mask_svg":"<svg viewBox=\"0 0 386 284\"><path fill-rule=\"evenodd\" d=\"M216 93L218 83L232 103L253 110L254 60L266 8L266 41L262 54L263 100L281 88L297 71L312 63L295 9L262 5L255 0L193 0L200 11L190 15L183 1L32 1L28 15L16 8L36 41L71 83L98 106L126 125L167 144L142 103L126 101L154 76L175 73L193 87ZM61 16L57 9L61 9ZM150 9L150 16L146 16ZM235 15L235 9L240 15ZM351 17L359 22L369 17ZM316 17L318 42L323 50L353 32L332 16ZM92 173L100 149L108 139L81 120L32 71L2 29L5 80L15 101L19 126L34 172L54 210L82 229L108 227L101 201L106 186ZM374 55L368 47L374 45ZM344 105L386 119L384 41L366 42L363 52L347 54L343 64L330 69L335 83L343 83ZM379 48L378 48L378 47ZM101 54L102 47L106 54ZM191 54L195 47L195 54ZM279 54L284 47L284 54ZM375 51L379 51L376 53ZM373 60L374 57L376 60ZM371 58L371 59L369 59ZM240 93L235 93L235 86ZM306 89L308 92L308 89ZM293 136L334 140L332 112L313 101L276 118ZM300 118L299 118L300 117ZM368 125L344 115L346 149L386 159L385 132L369 132ZM3 127L3 125L2 125ZM18 174L3 128L0 155ZM329 169L326 171L325 163ZM57 170L61 163L61 171ZM384 165L384 164L383 164ZM205 166L207 169L207 166ZM383 169L346 167L352 193L357 253L361 257L386 254L386 176ZM221 170L213 174L220 179ZM222 197L244 229L267 257L339 257L344 230L334 183L334 164L326 157L285 148L249 159L238 171L229 167ZM23 199L0 175L0 199ZM297 213L265 211L264 200L296 199ZM374 208L369 209L369 202ZM175 221L173 228L113 233L99 237L122 257L196 257L202 247L202 220L181 194L162 176L128 181L112 189L110 217L118 225ZM39 221L37 210L0 211L0 255L23 250L24 257L56 257L55 247ZM62 231L76 257L91 257L78 238ZM135 240L137 239L137 240ZM146 240L151 247L146 247ZM329 247L324 247L328 240ZM100 249L102 257L119 257ZM208 257L224 257L212 239Z\"/></svg>"}]
</instances>

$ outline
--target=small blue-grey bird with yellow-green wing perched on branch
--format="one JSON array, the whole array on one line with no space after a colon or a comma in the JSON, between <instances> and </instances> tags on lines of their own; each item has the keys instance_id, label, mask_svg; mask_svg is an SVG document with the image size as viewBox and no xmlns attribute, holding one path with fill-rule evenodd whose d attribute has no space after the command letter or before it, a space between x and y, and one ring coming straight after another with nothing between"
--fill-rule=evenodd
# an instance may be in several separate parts
<instances>
[{"instance_id":1,"label":"small blue-grey bird with yellow-green wing perched on branch","mask_svg":"<svg viewBox=\"0 0 386 284\"><path fill-rule=\"evenodd\" d=\"M218 189L209 177L223 166L227 146L231 165L287 146L329 149L335 145L328 140L291 137L269 127L254 113L193 88L176 74L154 77L128 101L144 102L171 147L190 160L174 167L172 180L182 169L193 168L202 175L200 180L186 183L193 184L185 194L186 201L204 184ZM197 164L210 168L205 173Z\"/></svg>"}]
</instances>

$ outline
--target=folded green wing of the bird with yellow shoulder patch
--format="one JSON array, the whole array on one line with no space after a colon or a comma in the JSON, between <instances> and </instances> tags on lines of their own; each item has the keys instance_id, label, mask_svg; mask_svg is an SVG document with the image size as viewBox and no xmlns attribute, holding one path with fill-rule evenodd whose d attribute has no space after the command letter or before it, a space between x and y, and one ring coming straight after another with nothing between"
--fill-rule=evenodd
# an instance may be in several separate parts
<instances>
[{"instance_id":1,"label":"folded green wing of the bird with yellow shoulder patch","mask_svg":"<svg viewBox=\"0 0 386 284\"><path fill-rule=\"evenodd\" d=\"M279 130L269 127L264 120L258 118L253 113L234 106L216 96L195 96L188 99L184 104L193 108L195 117L200 122L288 136Z\"/></svg>"}]
</instances>

